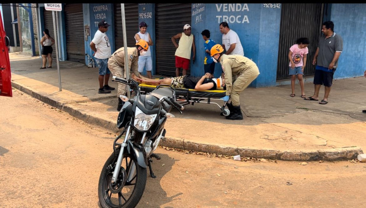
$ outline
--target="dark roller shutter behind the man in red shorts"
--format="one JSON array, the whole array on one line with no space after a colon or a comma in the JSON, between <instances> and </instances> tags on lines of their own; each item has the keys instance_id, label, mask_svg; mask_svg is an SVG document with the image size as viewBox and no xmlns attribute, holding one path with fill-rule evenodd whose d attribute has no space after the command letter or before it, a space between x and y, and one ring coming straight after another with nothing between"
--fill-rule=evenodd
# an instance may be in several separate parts
<instances>
[{"instance_id":1,"label":"dark roller shutter behind the man in red shorts","mask_svg":"<svg viewBox=\"0 0 366 208\"><path fill-rule=\"evenodd\" d=\"M176 48L171 37L182 33L184 24L191 25L190 3L155 4L156 74L175 76ZM187 70L189 74L190 70Z\"/></svg>"}]
</instances>

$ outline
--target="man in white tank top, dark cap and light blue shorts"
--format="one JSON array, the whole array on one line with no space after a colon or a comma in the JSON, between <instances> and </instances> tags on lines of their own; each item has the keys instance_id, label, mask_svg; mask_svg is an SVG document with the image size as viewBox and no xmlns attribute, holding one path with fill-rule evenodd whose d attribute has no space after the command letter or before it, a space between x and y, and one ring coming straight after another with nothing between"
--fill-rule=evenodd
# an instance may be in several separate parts
<instances>
[{"instance_id":1,"label":"man in white tank top, dark cap and light blue shorts","mask_svg":"<svg viewBox=\"0 0 366 208\"><path fill-rule=\"evenodd\" d=\"M149 46L152 46L154 43L151 39L150 34L148 32L146 32L147 24L145 22L141 22L139 24L139 27L140 27L140 32L138 32L135 35L136 42L140 39L144 39ZM150 47L149 47L149 49L147 49L147 52L145 55L139 56L139 69L138 69L139 74L141 74L143 72L143 68L146 68L147 77L152 79L152 76L151 76L152 59L151 59Z\"/></svg>"}]
</instances>

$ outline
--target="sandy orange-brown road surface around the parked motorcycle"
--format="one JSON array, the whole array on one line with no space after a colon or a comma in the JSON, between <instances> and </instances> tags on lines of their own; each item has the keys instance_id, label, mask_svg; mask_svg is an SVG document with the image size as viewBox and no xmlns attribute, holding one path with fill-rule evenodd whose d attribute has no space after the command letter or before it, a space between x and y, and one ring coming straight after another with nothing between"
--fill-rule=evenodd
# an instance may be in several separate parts
<instances>
[{"instance_id":1,"label":"sandy orange-brown road surface around the parked motorcycle","mask_svg":"<svg viewBox=\"0 0 366 208\"><path fill-rule=\"evenodd\" d=\"M12 98L0 97L0 106L0 207L100 207L98 180L115 132L18 90ZM156 153L162 157L153 162L157 178L148 174L141 208L366 204L366 163L236 161L164 148Z\"/></svg>"}]
</instances>

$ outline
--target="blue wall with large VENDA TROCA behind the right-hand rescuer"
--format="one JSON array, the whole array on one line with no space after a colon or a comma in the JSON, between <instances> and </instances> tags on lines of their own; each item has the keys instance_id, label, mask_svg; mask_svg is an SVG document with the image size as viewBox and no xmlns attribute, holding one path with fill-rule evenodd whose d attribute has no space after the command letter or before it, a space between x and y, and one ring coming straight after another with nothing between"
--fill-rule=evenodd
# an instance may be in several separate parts
<instances>
[{"instance_id":1,"label":"blue wall with large VENDA TROCA behind the right-hand rescuer","mask_svg":"<svg viewBox=\"0 0 366 208\"><path fill-rule=\"evenodd\" d=\"M281 9L264 8L259 3L192 4L191 26L196 38L196 62L191 63L191 74L204 74L204 40L201 32L209 30L210 38L222 44L223 34L219 28L223 21L239 35L244 56L258 65L261 74L251 86L275 86ZM214 76L220 76L221 71L221 65L216 64Z\"/></svg>"}]
</instances>

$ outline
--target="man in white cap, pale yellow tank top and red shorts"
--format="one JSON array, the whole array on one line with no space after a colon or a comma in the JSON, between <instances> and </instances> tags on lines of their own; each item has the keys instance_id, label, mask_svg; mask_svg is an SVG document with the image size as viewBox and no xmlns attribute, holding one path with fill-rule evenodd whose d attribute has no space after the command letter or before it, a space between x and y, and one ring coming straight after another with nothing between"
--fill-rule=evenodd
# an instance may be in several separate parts
<instances>
[{"instance_id":1,"label":"man in white cap, pale yellow tank top and red shorts","mask_svg":"<svg viewBox=\"0 0 366 208\"><path fill-rule=\"evenodd\" d=\"M194 35L191 34L192 28L189 24L183 26L184 33L178 33L172 36L172 42L177 49L175 51L175 75L178 77L180 69L182 68L183 76L187 74L189 68L189 61L191 59L191 51L193 51L192 60L193 63L196 58L196 45ZM176 39L179 39L177 44Z\"/></svg>"}]
</instances>

